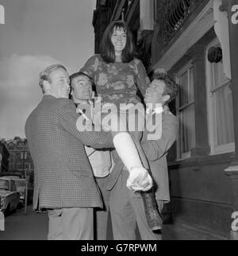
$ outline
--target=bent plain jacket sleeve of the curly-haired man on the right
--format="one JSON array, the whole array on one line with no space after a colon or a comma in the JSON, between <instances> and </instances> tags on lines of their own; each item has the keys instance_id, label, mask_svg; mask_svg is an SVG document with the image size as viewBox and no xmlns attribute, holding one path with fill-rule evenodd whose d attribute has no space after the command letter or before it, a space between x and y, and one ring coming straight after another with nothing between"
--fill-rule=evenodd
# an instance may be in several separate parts
<instances>
[{"instance_id":1,"label":"bent plain jacket sleeve of the curly-haired man on the right","mask_svg":"<svg viewBox=\"0 0 238 256\"><path fill-rule=\"evenodd\" d=\"M166 119L162 123L162 135L159 140L149 141L144 140L141 142L144 153L148 158L148 161L157 161L160 157L163 157L167 153L171 145L174 144L178 136L178 120Z\"/></svg>"}]
</instances>

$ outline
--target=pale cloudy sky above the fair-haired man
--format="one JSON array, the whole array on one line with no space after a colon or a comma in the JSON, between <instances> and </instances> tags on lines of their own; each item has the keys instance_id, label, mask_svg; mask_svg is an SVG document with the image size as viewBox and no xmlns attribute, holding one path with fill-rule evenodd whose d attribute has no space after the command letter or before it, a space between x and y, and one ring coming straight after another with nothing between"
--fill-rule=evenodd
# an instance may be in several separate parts
<instances>
[{"instance_id":1,"label":"pale cloudy sky above the fair-haired man","mask_svg":"<svg viewBox=\"0 0 238 256\"><path fill-rule=\"evenodd\" d=\"M40 70L77 72L94 54L96 0L0 0L0 138L25 138L25 120L40 102Z\"/></svg>"}]
</instances>

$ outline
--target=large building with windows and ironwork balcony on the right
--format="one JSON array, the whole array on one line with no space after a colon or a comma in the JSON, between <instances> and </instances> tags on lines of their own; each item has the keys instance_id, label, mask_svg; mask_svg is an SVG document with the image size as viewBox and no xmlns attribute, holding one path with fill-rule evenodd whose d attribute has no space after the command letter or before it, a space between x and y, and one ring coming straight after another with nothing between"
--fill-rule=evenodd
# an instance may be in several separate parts
<instances>
[{"instance_id":1,"label":"large building with windows and ironwork balcony on the right","mask_svg":"<svg viewBox=\"0 0 238 256\"><path fill-rule=\"evenodd\" d=\"M95 52L117 19L148 76L166 72L179 85L170 108L180 131L167 157L174 220L238 237L237 1L97 1Z\"/></svg>"}]
</instances>

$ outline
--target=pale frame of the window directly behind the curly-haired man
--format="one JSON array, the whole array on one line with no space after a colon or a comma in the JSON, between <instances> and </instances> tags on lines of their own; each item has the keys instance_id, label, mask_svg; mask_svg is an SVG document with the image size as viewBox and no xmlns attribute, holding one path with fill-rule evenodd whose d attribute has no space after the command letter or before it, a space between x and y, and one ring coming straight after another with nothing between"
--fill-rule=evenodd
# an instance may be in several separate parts
<instances>
[{"instance_id":1,"label":"pale frame of the window directly behind the curly-haired man","mask_svg":"<svg viewBox=\"0 0 238 256\"><path fill-rule=\"evenodd\" d=\"M176 83L178 83L178 77L182 76L182 74L184 72L187 72L190 68L193 68L192 60L190 60L185 66L183 66L178 71L178 73L175 76L176 77ZM180 125L180 111L182 111L185 107L188 107L191 104L194 104L194 101L192 101L192 102L190 102L190 103L188 103L186 105L183 105L182 107L179 107L179 97L180 97L180 95L179 95L179 91L178 91L178 96L177 96L177 100L176 100L176 110L177 110L176 112L177 112L177 117L178 117L179 125ZM184 152L184 153L180 152L180 139L179 139L179 136L178 136L176 145L177 145L177 160L183 160L183 159L191 157L191 152L190 151Z\"/></svg>"}]
</instances>

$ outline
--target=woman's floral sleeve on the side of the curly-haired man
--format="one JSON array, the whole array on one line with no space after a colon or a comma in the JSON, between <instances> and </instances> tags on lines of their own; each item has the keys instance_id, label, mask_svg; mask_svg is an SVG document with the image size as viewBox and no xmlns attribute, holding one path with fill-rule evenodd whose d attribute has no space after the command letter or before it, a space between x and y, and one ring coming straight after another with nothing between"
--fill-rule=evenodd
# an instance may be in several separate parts
<instances>
[{"instance_id":1,"label":"woman's floral sleeve on the side of the curly-haired man","mask_svg":"<svg viewBox=\"0 0 238 256\"><path fill-rule=\"evenodd\" d=\"M144 64L140 60L135 60L136 62L136 84L140 89L141 94L145 95L145 91L150 85L150 80L147 76L146 70L144 68Z\"/></svg>"}]
</instances>

